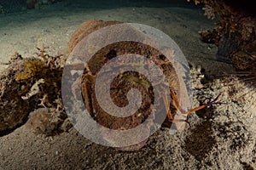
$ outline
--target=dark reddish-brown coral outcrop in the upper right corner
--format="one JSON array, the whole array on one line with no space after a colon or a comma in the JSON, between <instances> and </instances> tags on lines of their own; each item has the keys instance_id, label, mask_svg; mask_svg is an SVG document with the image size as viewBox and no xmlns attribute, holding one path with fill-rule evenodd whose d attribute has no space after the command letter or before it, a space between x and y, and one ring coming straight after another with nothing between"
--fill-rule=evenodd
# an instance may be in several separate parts
<instances>
[{"instance_id":1,"label":"dark reddish-brown coral outcrop in the upper right corner","mask_svg":"<svg viewBox=\"0 0 256 170\"><path fill-rule=\"evenodd\" d=\"M218 14L218 27L201 31L204 42L218 45L217 58L230 62L237 71L256 80L256 14L252 2L229 0L194 0L203 3L206 15ZM215 37L215 38L214 38Z\"/></svg>"}]
</instances>

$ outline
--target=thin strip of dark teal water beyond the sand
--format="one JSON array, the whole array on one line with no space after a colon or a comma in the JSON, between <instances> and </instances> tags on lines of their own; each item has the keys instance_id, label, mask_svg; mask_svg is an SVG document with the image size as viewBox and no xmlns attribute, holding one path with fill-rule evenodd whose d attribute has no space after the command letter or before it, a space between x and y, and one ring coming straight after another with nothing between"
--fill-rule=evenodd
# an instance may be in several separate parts
<instances>
[{"instance_id":1,"label":"thin strip of dark teal water beyond the sand","mask_svg":"<svg viewBox=\"0 0 256 170\"><path fill-rule=\"evenodd\" d=\"M51 6L51 7L50 7ZM40 9L56 8L80 10L83 8L121 8L121 7L183 7L197 8L195 3L188 3L186 0L55 0L55 3L41 6ZM19 13L28 9L26 0L0 0L0 7L4 14ZM0 8L0 9L1 9ZM2 12L3 13L3 12ZM0 10L1 14L1 10Z\"/></svg>"}]
</instances>

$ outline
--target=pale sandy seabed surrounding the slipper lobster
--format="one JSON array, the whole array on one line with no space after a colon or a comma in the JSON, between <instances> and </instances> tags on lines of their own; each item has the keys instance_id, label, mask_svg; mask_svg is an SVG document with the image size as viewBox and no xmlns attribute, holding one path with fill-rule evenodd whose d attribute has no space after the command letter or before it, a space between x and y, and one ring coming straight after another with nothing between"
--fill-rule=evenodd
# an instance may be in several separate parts
<instances>
[{"instance_id":1,"label":"pale sandy seabed surrounding the slipper lobster","mask_svg":"<svg viewBox=\"0 0 256 170\"><path fill-rule=\"evenodd\" d=\"M140 150L123 152L94 144L75 128L53 137L21 126L0 137L0 169L255 169L256 105L253 88L233 77L231 65L215 59L217 48L198 31L213 26L200 8L177 4L83 8L56 3L43 9L0 15L0 61L16 52L31 57L37 47L67 54L67 42L84 20L119 20L154 26L177 42L191 66L192 106L223 93L220 101L189 116L191 128L170 134L161 128ZM1 65L1 71L8 65ZM248 92L248 93L247 93Z\"/></svg>"}]
</instances>

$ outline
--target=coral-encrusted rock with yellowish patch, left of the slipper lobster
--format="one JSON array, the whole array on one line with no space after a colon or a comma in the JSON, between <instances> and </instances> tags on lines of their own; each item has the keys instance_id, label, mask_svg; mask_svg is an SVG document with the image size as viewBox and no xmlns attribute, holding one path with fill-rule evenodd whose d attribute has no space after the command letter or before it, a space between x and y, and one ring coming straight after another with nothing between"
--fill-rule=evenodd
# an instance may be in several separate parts
<instances>
[{"instance_id":1,"label":"coral-encrusted rock with yellowish patch, left of the slipper lobster","mask_svg":"<svg viewBox=\"0 0 256 170\"><path fill-rule=\"evenodd\" d=\"M4 135L21 126L28 119L29 112L38 108L49 109L58 115L58 123L45 122L49 118L46 110L39 110L42 116L32 116L40 132L50 134L61 127L67 118L61 96L61 77L65 56L50 56L45 47L38 48L38 56L23 59L20 54L9 61L9 68L0 79L0 135ZM44 122L44 123L42 123ZM40 124L41 123L41 124ZM42 127L45 125L44 127ZM52 127L57 126L57 127Z\"/></svg>"}]
</instances>

